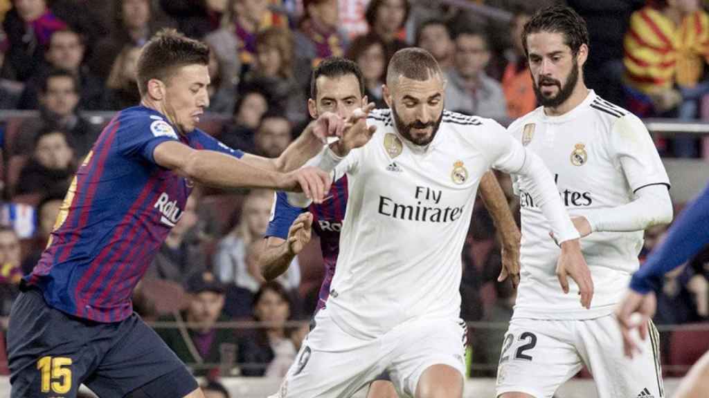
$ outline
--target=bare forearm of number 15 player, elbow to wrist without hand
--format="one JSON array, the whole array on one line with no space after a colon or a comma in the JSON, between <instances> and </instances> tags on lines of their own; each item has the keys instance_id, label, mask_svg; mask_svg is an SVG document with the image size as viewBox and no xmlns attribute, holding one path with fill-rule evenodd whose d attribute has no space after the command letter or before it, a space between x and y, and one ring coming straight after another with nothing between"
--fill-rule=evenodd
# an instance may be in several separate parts
<instances>
[{"instance_id":1,"label":"bare forearm of number 15 player, elbow to wrist without hand","mask_svg":"<svg viewBox=\"0 0 709 398\"><path fill-rule=\"evenodd\" d=\"M182 173L197 183L218 188L286 188L283 174L215 151L192 152Z\"/></svg>"}]
</instances>

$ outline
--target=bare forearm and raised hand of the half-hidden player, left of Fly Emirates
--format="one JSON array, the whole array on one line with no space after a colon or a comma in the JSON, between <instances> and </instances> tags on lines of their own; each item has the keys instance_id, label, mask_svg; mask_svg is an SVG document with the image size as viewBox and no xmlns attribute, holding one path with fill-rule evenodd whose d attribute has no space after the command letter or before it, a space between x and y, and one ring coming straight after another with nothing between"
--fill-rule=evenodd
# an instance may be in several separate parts
<instances>
[{"instance_id":1,"label":"bare forearm and raised hand of the half-hidden player, left of Fly Emirates","mask_svg":"<svg viewBox=\"0 0 709 398\"><path fill-rule=\"evenodd\" d=\"M266 280L274 280L288 271L293 258L303 250L311 239L313 215L303 213L296 218L288 231L288 239L268 237L266 247L262 251L257 263Z\"/></svg>"}]
</instances>

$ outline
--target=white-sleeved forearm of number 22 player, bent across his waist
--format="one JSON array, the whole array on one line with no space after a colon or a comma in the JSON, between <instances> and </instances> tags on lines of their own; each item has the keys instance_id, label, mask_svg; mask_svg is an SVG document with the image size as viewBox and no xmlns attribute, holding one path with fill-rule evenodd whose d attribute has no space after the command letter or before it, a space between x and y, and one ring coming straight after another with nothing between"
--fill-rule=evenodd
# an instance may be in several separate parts
<instances>
[{"instance_id":1,"label":"white-sleeved forearm of number 22 player, bent across his waist","mask_svg":"<svg viewBox=\"0 0 709 398\"><path fill-rule=\"evenodd\" d=\"M653 185L637 191L635 200L625 205L589 210L584 217L592 232L641 231L672 221L672 200L664 185Z\"/></svg>"}]
</instances>

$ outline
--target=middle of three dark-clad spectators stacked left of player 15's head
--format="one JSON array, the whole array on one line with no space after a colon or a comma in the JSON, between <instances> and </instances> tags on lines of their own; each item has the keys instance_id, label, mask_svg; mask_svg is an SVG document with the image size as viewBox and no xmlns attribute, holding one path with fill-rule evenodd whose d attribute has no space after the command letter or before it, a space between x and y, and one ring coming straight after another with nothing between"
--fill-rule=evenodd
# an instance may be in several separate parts
<instances>
[{"instance_id":1,"label":"middle of three dark-clad spectators stacked left of player 15's head","mask_svg":"<svg viewBox=\"0 0 709 398\"><path fill-rule=\"evenodd\" d=\"M65 131L77 157L89 153L99 130L77 113L79 87L79 81L71 72L50 71L40 85L40 118L28 119L21 125L22 134L14 140L11 153L32 152L35 135L44 127Z\"/></svg>"}]
</instances>

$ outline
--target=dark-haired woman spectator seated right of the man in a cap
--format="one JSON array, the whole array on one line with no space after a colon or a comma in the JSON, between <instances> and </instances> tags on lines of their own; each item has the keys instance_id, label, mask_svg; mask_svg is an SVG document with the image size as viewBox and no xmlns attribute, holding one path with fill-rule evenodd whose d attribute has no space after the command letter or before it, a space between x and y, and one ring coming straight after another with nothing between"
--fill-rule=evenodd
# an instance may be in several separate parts
<instances>
[{"instance_id":1,"label":"dark-haired woman spectator seated right of the man in a cap","mask_svg":"<svg viewBox=\"0 0 709 398\"><path fill-rule=\"evenodd\" d=\"M254 296L254 319L262 328L239 343L238 363L245 376L283 377L296 358L296 344L285 323L291 319L291 297L278 282L264 283Z\"/></svg>"}]
</instances>

